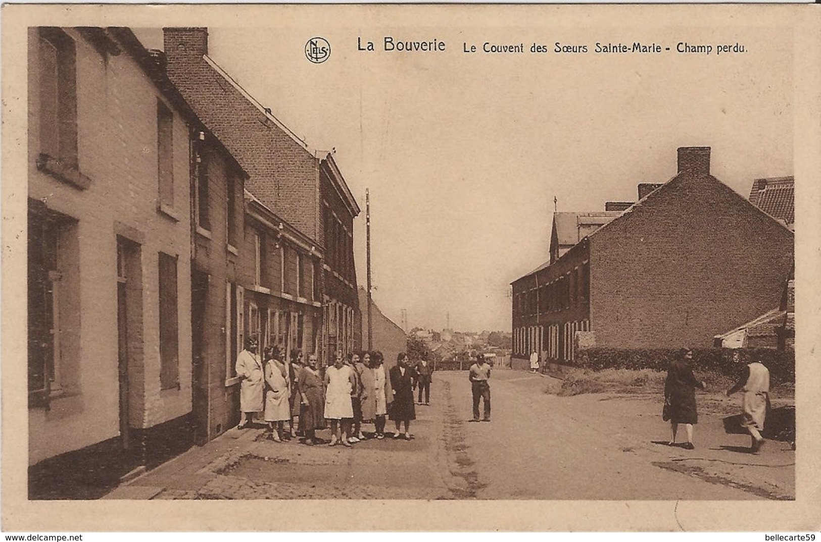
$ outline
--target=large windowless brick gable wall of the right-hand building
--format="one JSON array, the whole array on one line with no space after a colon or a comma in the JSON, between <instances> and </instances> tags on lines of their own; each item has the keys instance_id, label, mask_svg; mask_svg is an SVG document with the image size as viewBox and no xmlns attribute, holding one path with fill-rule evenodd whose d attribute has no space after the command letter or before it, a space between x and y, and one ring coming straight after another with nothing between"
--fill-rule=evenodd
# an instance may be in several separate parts
<instances>
[{"instance_id":1,"label":"large windowless brick gable wall of the right-hand building","mask_svg":"<svg viewBox=\"0 0 821 542\"><path fill-rule=\"evenodd\" d=\"M778 306L792 259L789 230L712 177L678 175L590 238L596 344L708 347Z\"/></svg>"}]
</instances>

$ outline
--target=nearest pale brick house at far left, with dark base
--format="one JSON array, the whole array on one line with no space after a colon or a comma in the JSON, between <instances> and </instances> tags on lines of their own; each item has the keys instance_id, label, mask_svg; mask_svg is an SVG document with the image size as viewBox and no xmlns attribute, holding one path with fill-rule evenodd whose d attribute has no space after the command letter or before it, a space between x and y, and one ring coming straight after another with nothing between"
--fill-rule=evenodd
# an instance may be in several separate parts
<instances>
[{"instance_id":1,"label":"nearest pale brick house at far left, with dark base","mask_svg":"<svg viewBox=\"0 0 821 542\"><path fill-rule=\"evenodd\" d=\"M130 30L32 28L28 62L30 496L60 498L190 444L196 119Z\"/></svg>"}]
</instances>

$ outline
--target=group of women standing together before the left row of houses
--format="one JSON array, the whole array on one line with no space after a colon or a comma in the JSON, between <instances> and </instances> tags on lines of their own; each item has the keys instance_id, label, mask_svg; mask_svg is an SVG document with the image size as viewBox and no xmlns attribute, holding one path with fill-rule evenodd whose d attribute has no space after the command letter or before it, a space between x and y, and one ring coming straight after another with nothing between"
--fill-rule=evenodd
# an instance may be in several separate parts
<instances>
[{"instance_id":1,"label":"group of women standing together before the left row of houses","mask_svg":"<svg viewBox=\"0 0 821 542\"><path fill-rule=\"evenodd\" d=\"M286 363L282 348L268 346L261 358L257 348L259 343L251 335L236 358L236 374L241 379L240 429L248 426L256 413L263 412L270 431L268 438L275 442L304 436L305 444L319 444L316 431L324 429L326 422L331 427L328 443L331 446L350 447L365 440L362 432L365 421L373 421L374 436L384 439L388 388L382 353L349 353L344 357L342 351L337 350L333 365L326 367L322 374L315 354L310 354L303 363L302 353L296 350L291 353L291 363ZM412 438L409 429L410 421L415 419L414 375L413 369L407 367L406 354L400 353L397 367L390 371L391 419L396 423L393 437L397 439ZM295 417L298 417L296 426ZM399 431L402 422L404 435Z\"/></svg>"}]
</instances>

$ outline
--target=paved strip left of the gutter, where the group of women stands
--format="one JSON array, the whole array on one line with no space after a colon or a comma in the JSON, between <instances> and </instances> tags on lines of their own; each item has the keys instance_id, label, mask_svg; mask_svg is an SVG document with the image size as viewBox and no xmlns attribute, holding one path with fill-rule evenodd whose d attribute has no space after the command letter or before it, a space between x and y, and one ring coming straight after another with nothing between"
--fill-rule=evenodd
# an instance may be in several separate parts
<instances>
[{"instance_id":1,"label":"paved strip left of the gutter, where the group of women stands","mask_svg":"<svg viewBox=\"0 0 821 542\"><path fill-rule=\"evenodd\" d=\"M266 439L262 425L228 430L103 499L452 499L441 446L442 401L416 405L414 439L307 446ZM372 424L364 424L366 435ZM317 435L330 439L329 430Z\"/></svg>"}]
</instances>

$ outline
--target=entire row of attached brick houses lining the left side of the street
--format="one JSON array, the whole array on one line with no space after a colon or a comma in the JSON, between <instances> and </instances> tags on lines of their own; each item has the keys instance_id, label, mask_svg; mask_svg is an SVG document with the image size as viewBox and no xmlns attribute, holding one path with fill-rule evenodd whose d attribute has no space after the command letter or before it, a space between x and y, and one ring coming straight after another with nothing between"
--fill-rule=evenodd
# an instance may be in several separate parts
<instances>
[{"instance_id":1,"label":"entire row of attached brick houses lining the left side of the street","mask_svg":"<svg viewBox=\"0 0 821 542\"><path fill-rule=\"evenodd\" d=\"M251 101L227 130L131 30L28 47L29 492L92 498L236 425L248 333L358 348L359 207L333 154Z\"/></svg>"}]
</instances>

